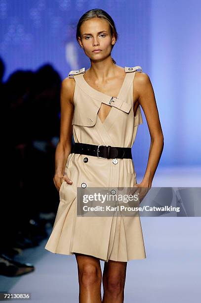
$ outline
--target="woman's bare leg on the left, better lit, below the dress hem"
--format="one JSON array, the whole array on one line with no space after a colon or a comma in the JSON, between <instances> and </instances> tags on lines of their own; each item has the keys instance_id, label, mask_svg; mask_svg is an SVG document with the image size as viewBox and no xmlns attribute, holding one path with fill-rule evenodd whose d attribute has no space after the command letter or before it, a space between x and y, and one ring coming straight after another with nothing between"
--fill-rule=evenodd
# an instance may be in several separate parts
<instances>
[{"instance_id":1,"label":"woman's bare leg on the left, better lit, below the dress hem","mask_svg":"<svg viewBox=\"0 0 201 303\"><path fill-rule=\"evenodd\" d=\"M102 271L100 259L75 253L78 263L79 303L101 303Z\"/></svg>"}]
</instances>

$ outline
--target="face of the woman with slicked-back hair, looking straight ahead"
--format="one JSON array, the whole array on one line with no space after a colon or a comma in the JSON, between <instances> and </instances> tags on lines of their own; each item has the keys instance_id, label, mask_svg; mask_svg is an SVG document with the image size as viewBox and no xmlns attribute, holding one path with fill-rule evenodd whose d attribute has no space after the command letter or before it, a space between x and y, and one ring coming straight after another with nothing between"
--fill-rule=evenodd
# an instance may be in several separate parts
<instances>
[{"instance_id":1,"label":"face of the woman with slicked-back hair, looking straight ahead","mask_svg":"<svg viewBox=\"0 0 201 303\"><path fill-rule=\"evenodd\" d=\"M83 22L80 26L79 43L85 54L91 60L100 60L108 57L112 50L112 45L116 40L111 36L109 23L101 18L92 18ZM101 51L93 51L101 50Z\"/></svg>"}]
</instances>

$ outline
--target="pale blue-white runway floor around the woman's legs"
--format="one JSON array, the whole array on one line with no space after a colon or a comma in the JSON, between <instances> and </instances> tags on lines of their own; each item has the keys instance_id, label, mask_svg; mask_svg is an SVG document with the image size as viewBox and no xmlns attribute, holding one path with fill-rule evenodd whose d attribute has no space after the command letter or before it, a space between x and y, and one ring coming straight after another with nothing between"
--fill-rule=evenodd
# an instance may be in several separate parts
<instances>
[{"instance_id":1,"label":"pale blue-white runway floor around the woman's legs","mask_svg":"<svg viewBox=\"0 0 201 303\"><path fill-rule=\"evenodd\" d=\"M201 168L159 169L152 186L200 187ZM124 302L200 303L201 218L142 217L141 223L147 258L128 262ZM24 302L79 302L75 255L47 252L45 244L46 240L15 258L36 269L16 278L0 276L0 292L30 292L31 301ZM103 265L101 261L102 269Z\"/></svg>"}]
</instances>

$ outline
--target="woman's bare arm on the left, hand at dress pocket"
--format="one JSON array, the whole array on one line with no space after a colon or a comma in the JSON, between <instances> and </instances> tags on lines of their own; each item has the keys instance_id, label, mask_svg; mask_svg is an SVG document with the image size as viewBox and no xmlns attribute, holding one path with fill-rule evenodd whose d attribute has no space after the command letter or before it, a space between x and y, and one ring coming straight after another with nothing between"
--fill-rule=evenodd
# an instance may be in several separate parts
<instances>
[{"instance_id":1,"label":"woman's bare arm on the left, hand at dress pocket","mask_svg":"<svg viewBox=\"0 0 201 303\"><path fill-rule=\"evenodd\" d=\"M59 191L62 179L72 184L72 181L64 176L64 169L71 153L72 143L72 120L74 115L74 90L75 80L65 78L61 86L60 103L61 103L61 121L60 121L60 138L55 152L55 175L54 185Z\"/></svg>"}]
</instances>

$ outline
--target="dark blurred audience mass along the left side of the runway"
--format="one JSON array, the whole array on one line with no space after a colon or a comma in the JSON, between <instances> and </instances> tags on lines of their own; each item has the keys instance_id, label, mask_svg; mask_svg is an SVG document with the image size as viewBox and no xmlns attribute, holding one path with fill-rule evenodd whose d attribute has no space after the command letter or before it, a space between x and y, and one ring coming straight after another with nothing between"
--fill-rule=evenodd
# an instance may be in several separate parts
<instances>
[{"instance_id":1,"label":"dark blurred audience mass along the left side of the runway","mask_svg":"<svg viewBox=\"0 0 201 303\"><path fill-rule=\"evenodd\" d=\"M15 260L24 249L48 237L59 203L53 183L54 156L60 132L61 77L50 64L37 71L17 70L3 83L5 110L0 208L0 275L19 276L34 265ZM2 117L3 118L3 117ZM1 119L2 120L2 119ZM73 144L73 143L72 143ZM23 257L22 257L23 259Z\"/></svg>"}]
</instances>

